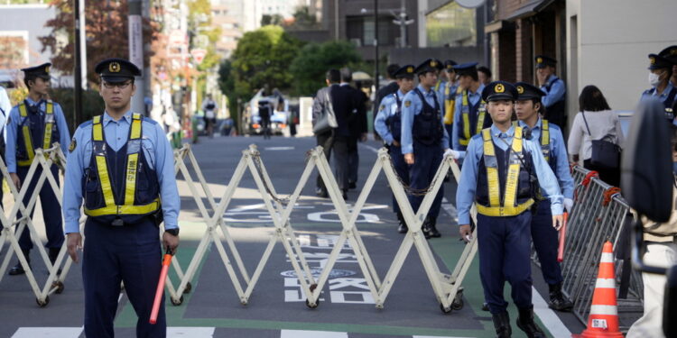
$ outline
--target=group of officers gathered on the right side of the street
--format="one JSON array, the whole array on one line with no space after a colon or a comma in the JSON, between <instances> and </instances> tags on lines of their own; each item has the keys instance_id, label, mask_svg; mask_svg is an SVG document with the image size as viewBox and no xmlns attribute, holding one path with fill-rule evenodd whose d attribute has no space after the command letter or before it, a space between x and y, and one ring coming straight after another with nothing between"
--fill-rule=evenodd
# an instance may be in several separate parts
<instances>
[{"instance_id":1,"label":"group of officers gathered on the right side of the street","mask_svg":"<svg viewBox=\"0 0 677 338\"><path fill-rule=\"evenodd\" d=\"M561 293L557 242L563 209L573 205L573 179L561 128L543 118L547 102L552 107L547 115L565 121L565 89L554 76L554 59L537 56L535 61L543 73L541 87L505 81L485 86L477 63L427 59L418 67L403 66L395 73L399 90L385 96L375 120L397 174L410 187L414 212L422 194L412 192L431 185L444 156L462 160L456 197L459 233L471 240L469 211L476 204L480 277L499 337L509 337L512 330L505 281L513 288L518 327L529 337L544 337L533 321L532 242L550 286L550 306L561 311L572 307ZM441 235L436 225L442 195L441 188L423 224L426 238ZM398 231L406 233L407 224L393 203Z\"/></svg>"}]
</instances>

